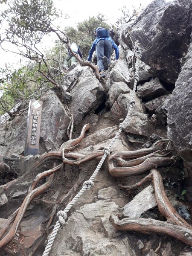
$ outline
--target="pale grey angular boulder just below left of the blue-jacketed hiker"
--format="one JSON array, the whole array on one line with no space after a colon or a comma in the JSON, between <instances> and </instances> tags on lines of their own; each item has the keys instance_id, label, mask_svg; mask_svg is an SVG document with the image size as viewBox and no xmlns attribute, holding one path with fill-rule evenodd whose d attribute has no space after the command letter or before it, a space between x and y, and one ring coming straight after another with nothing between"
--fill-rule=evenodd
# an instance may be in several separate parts
<instances>
[{"instance_id":1,"label":"pale grey angular boulder just below left of the blue-jacketed hiker","mask_svg":"<svg viewBox=\"0 0 192 256\"><path fill-rule=\"evenodd\" d=\"M104 101L105 91L90 69L86 69L71 95L70 112L74 115L74 124L78 125L86 113L95 111Z\"/></svg>"}]
</instances>

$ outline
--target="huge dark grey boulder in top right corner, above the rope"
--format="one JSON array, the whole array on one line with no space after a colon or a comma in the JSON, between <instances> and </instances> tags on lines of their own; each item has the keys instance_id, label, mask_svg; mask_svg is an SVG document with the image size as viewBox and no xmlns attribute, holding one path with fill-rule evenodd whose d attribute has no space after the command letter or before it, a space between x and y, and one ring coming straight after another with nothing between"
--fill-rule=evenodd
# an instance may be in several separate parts
<instances>
[{"instance_id":1,"label":"huge dark grey boulder in top right corner, above the rope","mask_svg":"<svg viewBox=\"0 0 192 256\"><path fill-rule=\"evenodd\" d=\"M175 84L180 61L190 42L191 9L191 0L155 0L145 8L129 33L133 44L139 40L143 50L141 60L169 84ZM124 37L129 45L127 34Z\"/></svg>"}]
</instances>

